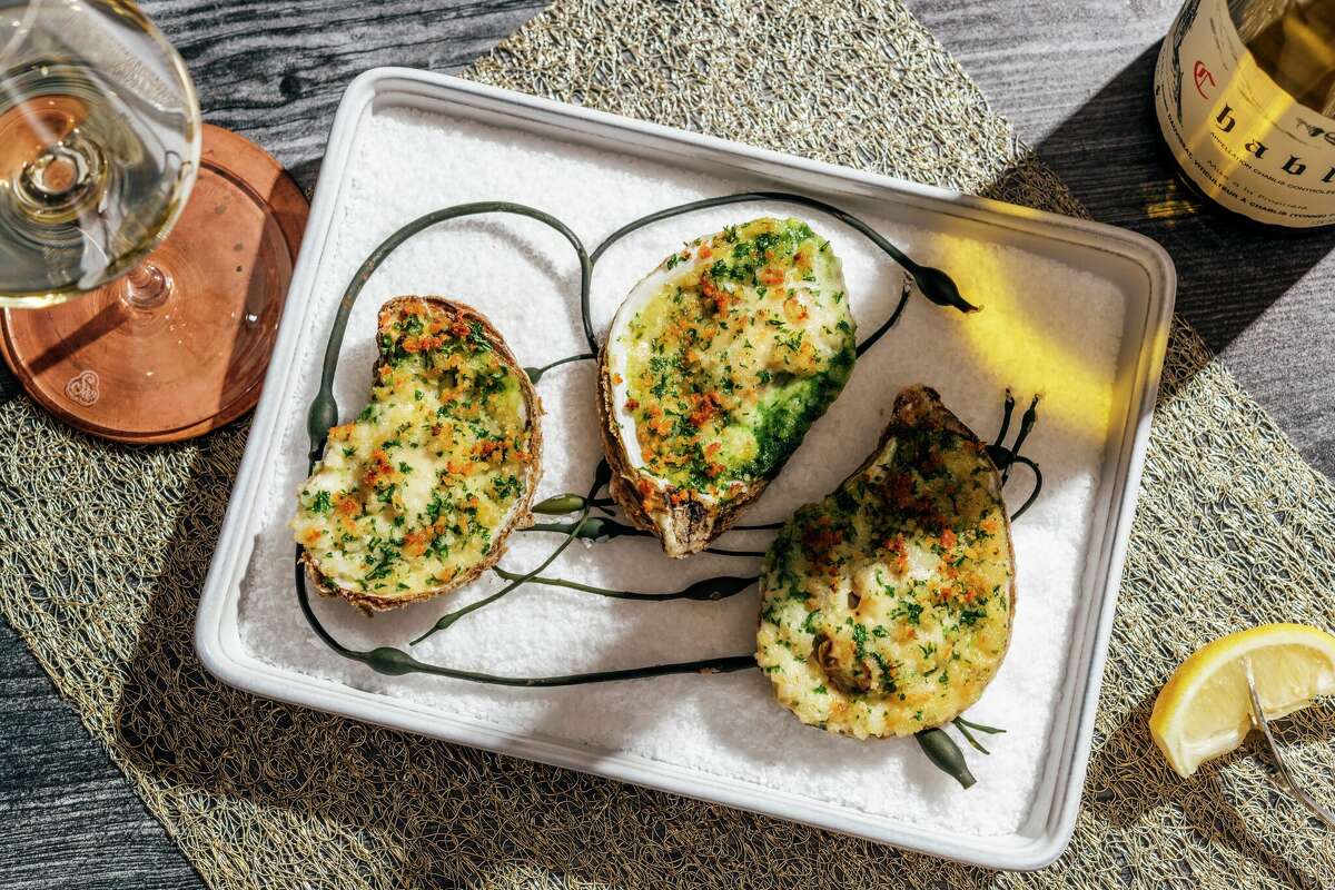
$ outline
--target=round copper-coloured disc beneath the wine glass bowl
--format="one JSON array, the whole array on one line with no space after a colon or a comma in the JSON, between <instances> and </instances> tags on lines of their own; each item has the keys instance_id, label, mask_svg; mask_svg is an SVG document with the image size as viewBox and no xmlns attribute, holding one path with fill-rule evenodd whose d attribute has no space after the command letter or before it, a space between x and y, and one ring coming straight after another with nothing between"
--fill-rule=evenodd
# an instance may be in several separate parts
<instances>
[{"instance_id":1,"label":"round copper-coloured disc beneath the wine glass bowl","mask_svg":"<svg viewBox=\"0 0 1335 890\"><path fill-rule=\"evenodd\" d=\"M0 351L61 420L117 442L179 442L259 400L310 205L264 149L204 124L199 176L150 255L167 303L134 310L116 283L45 310L5 310Z\"/></svg>"}]
</instances>

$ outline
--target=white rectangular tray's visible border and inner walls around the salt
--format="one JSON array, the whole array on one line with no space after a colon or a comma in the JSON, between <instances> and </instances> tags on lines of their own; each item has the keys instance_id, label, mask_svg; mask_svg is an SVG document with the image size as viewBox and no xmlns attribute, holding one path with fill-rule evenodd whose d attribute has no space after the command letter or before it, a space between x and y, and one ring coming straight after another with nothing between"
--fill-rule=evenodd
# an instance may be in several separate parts
<instances>
[{"instance_id":1,"label":"white rectangular tray's visible border and inner walls around the salt","mask_svg":"<svg viewBox=\"0 0 1335 890\"><path fill-rule=\"evenodd\" d=\"M259 535L258 504L272 484L274 467L290 456L279 450L294 447L291 443L284 446L282 432L291 423L291 402L296 387L302 384L300 376L308 372L300 367L298 356L310 347L302 338L308 338L308 331L312 330L311 306L315 302L316 274L328 259L336 228L350 224L339 217L336 209L348 187L346 179L355 137L367 117L384 108L446 113L459 120L538 135L551 144L579 144L650 159L684 173L694 171L776 189L800 191L837 205L876 201L878 209L906 224L1053 258L1111 283L1124 296L1124 331L1116 383L1112 387L1112 430L1103 451L1103 468L1093 500L1093 534L1083 554L1083 591L1075 607L1072 636L1061 670L1060 682L1064 689L1047 741L1041 781L1036 787L1029 818L1019 830L999 837L960 837L627 751L535 738L494 722L443 713L413 698L372 691L364 689L364 685L356 687L286 670L256 658L247 648L242 639L239 603L243 576ZM457 203L450 195L439 197L438 205L442 207ZM287 310L264 383L264 395L255 414L218 550L200 598L196 650L215 677L259 695L963 862L1001 869L1041 867L1065 847L1080 803L1121 564L1168 339L1173 292L1175 274L1164 251L1139 235L1117 228L780 155L427 72L396 68L366 72L348 87L334 120ZM482 308L486 310L486 306ZM327 322L314 324L319 336L327 331ZM350 407L343 406L344 411ZM306 442L302 440L295 447L304 454ZM1011 658L1016 655L1012 654Z\"/></svg>"}]
</instances>

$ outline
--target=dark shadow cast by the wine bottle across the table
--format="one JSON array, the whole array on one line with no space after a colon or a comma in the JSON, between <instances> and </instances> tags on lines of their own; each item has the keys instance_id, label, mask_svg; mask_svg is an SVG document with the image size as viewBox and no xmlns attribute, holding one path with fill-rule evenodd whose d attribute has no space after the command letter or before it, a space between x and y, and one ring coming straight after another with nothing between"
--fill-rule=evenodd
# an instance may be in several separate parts
<instances>
[{"instance_id":1,"label":"dark shadow cast by the wine bottle across the table","mask_svg":"<svg viewBox=\"0 0 1335 890\"><path fill-rule=\"evenodd\" d=\"M1035 149L1100 223L1159 242L1177 267L1177 312L1227 347L1335 247L1335 230L1290 234L1199 201L1179 180L1153 113L1155 44ZM1007 177L985 189L1007 199Z\"/></svg>"}]
</instances>

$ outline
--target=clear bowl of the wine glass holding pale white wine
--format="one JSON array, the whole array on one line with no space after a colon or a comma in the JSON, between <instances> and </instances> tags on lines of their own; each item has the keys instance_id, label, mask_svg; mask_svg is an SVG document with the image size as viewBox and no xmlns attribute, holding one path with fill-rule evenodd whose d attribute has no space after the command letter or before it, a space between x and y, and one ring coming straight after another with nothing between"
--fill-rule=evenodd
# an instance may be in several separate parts
<instances>
[{"instance_id":1,"label":"clear bowl of the wine glass holding pale white wine","mask_svg":"<svg viewBox=\"0 0 1335 890\"><path fill-rule=\"evenodd\" d=\"M40 307L119 278L167 235L199 168L199 104L134 8L5 12L0 304Z\"/></svg>"}]
</instances>

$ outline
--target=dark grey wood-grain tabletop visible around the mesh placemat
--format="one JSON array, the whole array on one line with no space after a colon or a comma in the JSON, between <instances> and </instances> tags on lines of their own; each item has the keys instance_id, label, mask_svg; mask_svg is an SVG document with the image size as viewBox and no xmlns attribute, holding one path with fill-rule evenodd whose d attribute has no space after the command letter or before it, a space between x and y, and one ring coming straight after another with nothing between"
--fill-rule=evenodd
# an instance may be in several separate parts
<instances>
[{"instance_id":1,"label":"dark grey wood-grain tabletop visible around the mesh placemat","mask_svg":"<svg viewBox=\"0 0 1335 890\"><path fill-rule=\"evenodd\" d=\"M1163 243L1177 308L1323 472L1335 475L1335 232L1302 238L1180 197L1149 108L1175 0L908 0L995 108L1105 223ZM339 95L384 64L451 71L534 15L533 0L144 0L206 117L314 184ZM0 624L0 890L198 887L199 878Z\"/></svg>"}]
</instances>

